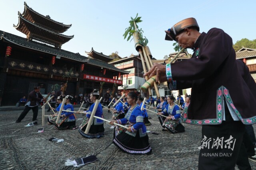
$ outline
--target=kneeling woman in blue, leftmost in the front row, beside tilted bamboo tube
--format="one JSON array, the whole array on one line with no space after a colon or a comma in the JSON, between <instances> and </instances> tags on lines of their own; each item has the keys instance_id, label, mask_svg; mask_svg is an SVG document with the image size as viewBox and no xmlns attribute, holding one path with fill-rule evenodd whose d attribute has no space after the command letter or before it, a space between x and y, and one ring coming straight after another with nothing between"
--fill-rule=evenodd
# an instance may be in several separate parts
<instances>
[{"instance_id":1,"label":"kneeling woman in blue, leftmost in the front row, beside tilted bamboo tube","mask_svg":"<svg viewBox=\"0 0 256 170\"><path fill-rule=\"evenodd\" d=\"M58 122L58 125L56 122L54 123L55 127L58 130L65 130L65 129L76 129L76 116L72 112L66 112L66 111L74 111L74 107L70 103L70 101L73 99L72 96L67 95L66 97L66 105L63 107L65 111L61 113L60 121ZM59 126L60 125L60 126Z\"/></svg>"}]
</instances>

